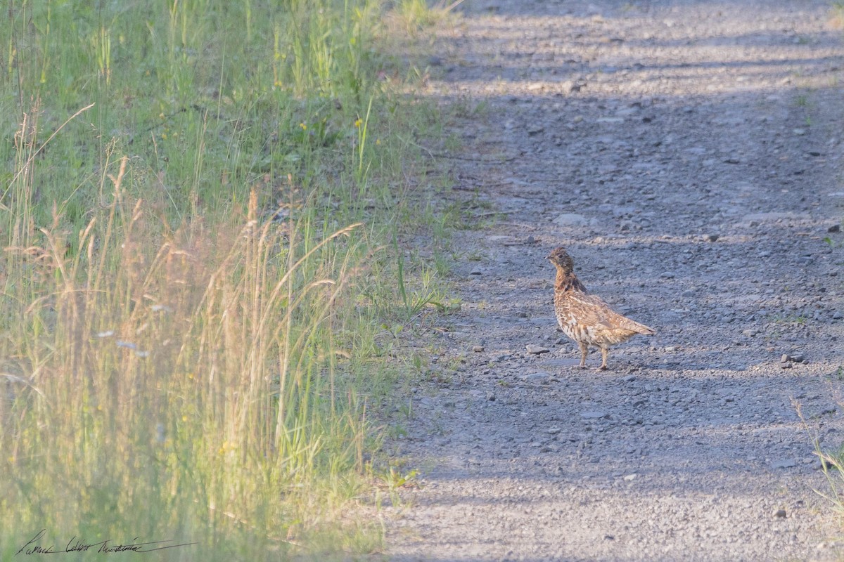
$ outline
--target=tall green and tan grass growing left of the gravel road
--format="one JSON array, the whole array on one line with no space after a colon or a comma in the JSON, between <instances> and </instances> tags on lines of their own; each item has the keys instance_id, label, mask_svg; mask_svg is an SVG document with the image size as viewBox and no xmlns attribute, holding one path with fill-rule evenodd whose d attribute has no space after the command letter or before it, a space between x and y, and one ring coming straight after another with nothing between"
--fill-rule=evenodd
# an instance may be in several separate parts
<instances>
[{"instance_id":1,"label":"tall green and tan grass growing left of the gravel road","mask_svg":"<svg viewBox=\"0 0 844 562\"><path fill-rule=\"evenodd\" d=\"M0 559L41 529L84 559L381 546L373 342L442 301L397 242L426 124L379 3L272 4L0 23Z\"/></svg>"}]
</instances>

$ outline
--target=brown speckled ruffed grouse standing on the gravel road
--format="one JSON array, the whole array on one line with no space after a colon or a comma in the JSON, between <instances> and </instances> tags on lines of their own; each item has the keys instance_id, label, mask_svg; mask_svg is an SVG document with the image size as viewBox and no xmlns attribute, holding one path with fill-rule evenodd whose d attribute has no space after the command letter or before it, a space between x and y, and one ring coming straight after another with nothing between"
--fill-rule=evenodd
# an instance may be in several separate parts
<instances>
[{"instance_id":1,"label":"brown speckled ruffed grouse standing on the gravel road","mask_svg":"<svg viewBox=\"0 0 844 562\"><path fill-rule=\"evenodd\" d=\"M600 297L590 295L578 281L574 261L565 248L555 249L548 259L557 268L554 311L560 328L581 350L580 367L586 367L589 346L601 349L601 369L607 368L610 345L618 345L636 334L654 335L652 329L616 313Z\"/></svg>"}]
</instances>

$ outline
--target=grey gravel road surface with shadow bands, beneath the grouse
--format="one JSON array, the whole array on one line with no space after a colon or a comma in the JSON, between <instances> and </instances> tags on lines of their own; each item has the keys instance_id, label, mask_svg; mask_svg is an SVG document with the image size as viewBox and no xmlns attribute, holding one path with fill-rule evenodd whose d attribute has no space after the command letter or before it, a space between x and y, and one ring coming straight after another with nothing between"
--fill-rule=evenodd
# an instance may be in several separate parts
<instances>
[{"instance_id":1,"label":"grey gravel road surface with shadow bands, beneath the grouse","mask_svg":"<svg viewBox=\"0 0 844 562\"><path fill-rule=\"evenodd\" d=\"M813 491L829 490L814 437L844 440L829 4L459 9L428 94L464 108L446 131L463 149L443 153L482 227L454 241L463 307L392 443L423 475L387 508L388 556L841 559ZM600 354L577 369L555 329L558 245L657 330L607 372Z\"/></svg>"}]
</instances>

